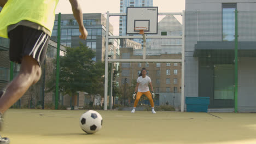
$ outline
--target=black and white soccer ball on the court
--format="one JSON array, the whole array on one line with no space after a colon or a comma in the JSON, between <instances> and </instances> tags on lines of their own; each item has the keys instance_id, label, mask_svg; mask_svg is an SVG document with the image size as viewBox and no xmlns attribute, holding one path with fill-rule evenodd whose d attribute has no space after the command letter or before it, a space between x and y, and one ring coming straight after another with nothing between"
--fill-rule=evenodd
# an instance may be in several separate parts
<instances>
[{"instance_id":1,"label":"black and white soccer ball on the court","mask_svg":"<svg viewBox=\"0 0 256 144\"><path fill-rule=\"evenodd\" d=\"M102 117L97 111L86 111L80 117L80 127L87 134L94 134L102 127Z\"/></svg>"}]
</instances>

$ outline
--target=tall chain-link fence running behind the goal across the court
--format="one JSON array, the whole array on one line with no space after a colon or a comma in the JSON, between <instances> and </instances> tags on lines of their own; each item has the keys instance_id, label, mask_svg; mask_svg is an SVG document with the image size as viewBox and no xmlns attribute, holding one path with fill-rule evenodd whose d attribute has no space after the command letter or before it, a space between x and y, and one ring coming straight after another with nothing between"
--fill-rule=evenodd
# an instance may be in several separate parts
<instances>
[{"instance_id":1,"label":"tall chain-link fence running behind the goal across the court","mask_svg":"<svg viewBox=\"0 0 256 144\"><path fill-rule=\"evenodd\" d=\"M56 15L48 53L42 65L42 77L13 107L54 109L57 101L59 109L103 109L106 15L84 14L84 26L89 33L86 40L78 38L79 27L72 14L60 16L60 57L57 57L59 16ZM210 109L256 111L256 12L185 11L184 16L184 96L210 97ZM110 17L109 35L123 34L123 24L120 25L120 22L124 17ZM157 35L182 35L181 19L182 16L159 16ZM10 74L15 76L20 68L14 64L14 73L10 71L8 43L7 39L0 39L1 88L9 82ZM115 38L107 43L109 59L143 58L143 39ZM113 108L133 106L132 93L142 68L148 70L147 75L152 79L155 105L171 105L181 109L182 39L149 38L146 49L146 59L172 61L109 62L108 109L110 96L113 97ZM178 61L173 62L173 59ZM56 79L56 76L59 77ZM56 86L56 82L59 85ZM138 107L149 105L145 96L138 103Z\"/></svg>"}]
</instances>

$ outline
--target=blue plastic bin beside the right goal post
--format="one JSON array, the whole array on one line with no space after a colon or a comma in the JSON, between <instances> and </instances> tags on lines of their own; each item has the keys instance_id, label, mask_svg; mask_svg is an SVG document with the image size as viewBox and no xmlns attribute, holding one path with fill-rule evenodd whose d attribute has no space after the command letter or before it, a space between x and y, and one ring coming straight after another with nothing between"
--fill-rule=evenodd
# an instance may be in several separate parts
<instances>
[{"instance_id":1,"label":"blue plastic bin beside the right goal post","mask_svg":"<svg viewBox=\"0 0 256 144\"><path fill-rule=\"evenodd\" d=\"M210 97L186 97L187 112L208 112Z\"/></svg>"}]
</instances>

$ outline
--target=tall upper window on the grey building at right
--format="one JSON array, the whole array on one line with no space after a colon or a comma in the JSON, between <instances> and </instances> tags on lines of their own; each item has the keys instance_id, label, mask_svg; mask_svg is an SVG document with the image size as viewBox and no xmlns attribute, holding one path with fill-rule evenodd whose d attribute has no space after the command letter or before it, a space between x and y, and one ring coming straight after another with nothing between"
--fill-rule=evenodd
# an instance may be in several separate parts
<instances>
[{"instance_id":1,"label":"tall upper window on the grey building at right","mask_svg":"<svg viewBox=\"0 0 256 144\"><path fill-rule=\"evenodd\" d=\"M235 40L235 10L236 3L222 4L222 39L223 41Z\"/></svg>"}]
</instances>

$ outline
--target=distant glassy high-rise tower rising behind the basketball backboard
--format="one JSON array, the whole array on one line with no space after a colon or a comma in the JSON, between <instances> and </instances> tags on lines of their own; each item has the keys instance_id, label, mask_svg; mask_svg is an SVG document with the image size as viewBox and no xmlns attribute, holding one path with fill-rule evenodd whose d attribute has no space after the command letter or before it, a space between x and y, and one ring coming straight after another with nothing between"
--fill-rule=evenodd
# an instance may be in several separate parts
<instances>
[{"instance_id":1,"label":"distant glassy high-rise tower rising behind the basketball backboard","mask_svg":"<svg viewBox=\"0 0 256 144\"><path fill-rule=\"evenodd\" d=\"M153 7L153 0L120 0L120 13L127 7ZM126 35L126 16L120 16L119 35Z\"/></svg>"}]
</instances>

